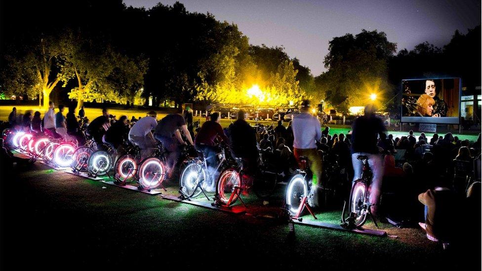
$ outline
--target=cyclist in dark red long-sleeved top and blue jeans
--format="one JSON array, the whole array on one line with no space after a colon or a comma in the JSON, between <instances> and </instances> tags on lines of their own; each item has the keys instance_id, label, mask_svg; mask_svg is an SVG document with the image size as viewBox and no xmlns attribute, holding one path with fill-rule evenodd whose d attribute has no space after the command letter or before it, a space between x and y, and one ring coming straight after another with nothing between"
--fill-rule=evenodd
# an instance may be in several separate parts
<instances>
[{"instance_id":1,"label":"cyclist in dark red long-sleeved top and blue jeans","mask_svg":"<svg viewBox=\"0 0 482 271\"><path fill-rule=\"evenodd\" d=\"M217 165L217 157L215 155L218 153L215 145L216 139L219 137L224 142L228 142L228 137L224 134L224 130L219 122L221 121L221 116L219 113L213 113L210 116L210 120L204 122L196 135L196 148L204 152L204 157L206 158L206 164L209 170L209 176L212 174L211 170ZM214 176L214 175L213 175ZM214 191L216 183L213 180L207 180L209 186L207 191Z\"/></svg>"}]
</instances>

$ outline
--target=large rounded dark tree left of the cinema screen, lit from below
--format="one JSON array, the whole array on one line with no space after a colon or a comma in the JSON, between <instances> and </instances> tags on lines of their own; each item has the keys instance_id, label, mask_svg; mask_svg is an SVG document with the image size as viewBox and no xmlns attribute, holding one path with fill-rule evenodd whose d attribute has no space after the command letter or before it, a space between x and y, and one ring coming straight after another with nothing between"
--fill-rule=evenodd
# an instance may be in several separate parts
<instances>
[{"instance_id":1,"label":"large rounded dark tree left of the cinema screen, lit from below","mask_svg":"<svg viewBox=\"0 0 482 271\"><path fill-rule=\"evenodd\" d=\"M325 87L326 100L339 111L347 112L350 106L368 103L368 96L376 93L380 97L377 105L383 106L393 95L387 62L396 48L385 33L376 30L332 39L324 59L328 71L318 79Z\"/></svg>"}]
</instances>

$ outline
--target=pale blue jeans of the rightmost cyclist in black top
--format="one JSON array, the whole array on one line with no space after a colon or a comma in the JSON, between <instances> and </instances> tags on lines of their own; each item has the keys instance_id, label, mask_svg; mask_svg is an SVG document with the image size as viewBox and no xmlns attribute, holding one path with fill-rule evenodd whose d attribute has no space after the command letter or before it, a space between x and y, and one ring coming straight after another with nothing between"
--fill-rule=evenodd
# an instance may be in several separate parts
<instances>
[{"instance_id":1,"label":"pale blue jeans of the rightmost cyclist in black top","mask_svg":"<svg viewBox=\"0 0 482 271\"><path fill-rule=\"evenodd\" d=\"M368 190L370 193L370 203L378 204L380 202L383 179L383 156L367 153L352 154L353 170L355 171L355 174L353 176L354 182L361 178L361 172L363 171L363 163L359 159L357 159L358 155L366 155L368 157L368 165L370 166L371 172L373 173L371 186Z\"/></svg>"}]
</instances>

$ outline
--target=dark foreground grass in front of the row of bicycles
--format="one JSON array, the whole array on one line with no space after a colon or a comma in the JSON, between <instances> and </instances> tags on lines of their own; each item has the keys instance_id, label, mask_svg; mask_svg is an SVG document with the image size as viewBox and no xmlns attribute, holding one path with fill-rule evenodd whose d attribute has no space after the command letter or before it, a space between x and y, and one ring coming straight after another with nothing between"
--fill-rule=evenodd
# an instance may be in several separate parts
<instances>
[{"instance_id":1,"label":"dark foreground grass in front of the row of bicycles","mask_svg":"<svg viewBox=\"0 0 482 271\"><path fill-rule=\"evenodd\" d=\"M167 188L175 195L178 184L170 183ZM298 225L290 238L282 221L161 199L56 171L39 162L2 172L1 193L4 266L449 269L470 259L470 255L443 251L420 229L388 224L382 224L382 229L398 238ZM246 199L248 206L261 209L263 204L254 196ZM281 200L274 198L266 209L276 210L280 205ZM319 212L318 216L337 224L340 211ZM480 257L480 238L475 240L479 250L474 255Z\"/></svg>"}]
</instances>

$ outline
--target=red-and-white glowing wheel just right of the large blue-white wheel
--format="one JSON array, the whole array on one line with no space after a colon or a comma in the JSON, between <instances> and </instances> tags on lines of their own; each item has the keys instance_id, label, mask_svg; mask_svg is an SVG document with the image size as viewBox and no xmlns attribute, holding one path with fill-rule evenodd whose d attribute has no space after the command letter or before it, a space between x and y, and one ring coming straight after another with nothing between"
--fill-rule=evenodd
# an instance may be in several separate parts
<instances>
[{"instance_id":1,"label":"red-and-white glowing wheel just right of the large blue-white wheel","mask_svg":"<svg viewBox=\"0 0 482 271\"><path fill-rule=\"evenodd\" d=\"M234 167L227 168L219 175L218 183L216 185L216 194L218 199L225 205L231 198L229 205L238 200L238 194L234 193L236 187L241 187L241 177L238 170Z\"/></svg>"}]
</instances>

